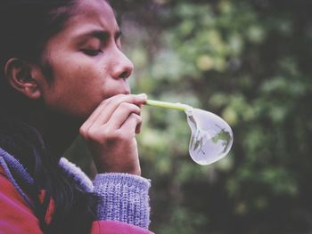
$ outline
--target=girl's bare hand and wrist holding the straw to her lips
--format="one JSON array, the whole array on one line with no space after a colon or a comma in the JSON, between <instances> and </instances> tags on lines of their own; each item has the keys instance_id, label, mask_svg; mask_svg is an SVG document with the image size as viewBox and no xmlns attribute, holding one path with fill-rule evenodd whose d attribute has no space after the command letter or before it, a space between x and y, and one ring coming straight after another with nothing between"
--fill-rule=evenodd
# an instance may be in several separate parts
<instances>
[{"instance_id":1,"label":"girl's bare hand and wrist holding the straw to her lips","mask_svg":"<svg viewBox=\"0 0 312 234\"><path fill-rule=\"evenodd\" d=\"M99 173L141 174L135 133L140 132L145 101L145 94L113 96L80 127Z\"/></svg>"}]
</instances>

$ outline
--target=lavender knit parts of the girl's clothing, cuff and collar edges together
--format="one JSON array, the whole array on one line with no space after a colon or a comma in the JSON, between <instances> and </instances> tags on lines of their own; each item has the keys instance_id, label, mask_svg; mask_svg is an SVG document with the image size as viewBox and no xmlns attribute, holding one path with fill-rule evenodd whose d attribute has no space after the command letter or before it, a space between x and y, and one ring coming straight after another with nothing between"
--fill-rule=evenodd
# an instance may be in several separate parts
<instances>
[{"instance_id":1,"label":"lavender knit parts of the girl's clothing, cuff and collar edges together","mask_svg":"<svg viewBox=\"0 0 312 234\"><path fill-rule=\"evenodd\" d=\"M29 198L15 181L22 180L26 184L34 182L23 165L1 148L0 165L21 197L31 206ZM62 157L59 165L82 190L94 193L99 198L94 211L97 220L127 222L148 229L150 224L148 190L151 186L149 180L128 173L99 173L95 176L94 182L91 182L86 173L66 158ZM12 172L18 178L13 177Z\"/></svg>"}]
</instances>

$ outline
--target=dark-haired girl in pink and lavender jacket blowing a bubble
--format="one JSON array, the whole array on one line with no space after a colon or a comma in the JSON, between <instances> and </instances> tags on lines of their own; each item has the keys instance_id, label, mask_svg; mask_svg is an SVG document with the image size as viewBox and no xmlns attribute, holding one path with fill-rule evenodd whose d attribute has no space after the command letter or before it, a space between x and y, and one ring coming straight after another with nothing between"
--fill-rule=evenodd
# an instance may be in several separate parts
<instances>
[{"instance_id":1,"label":"dark-haired girl in pink and lavender jacket blowing a bubble","mask_svg":"<svg viewBox=\"0 0 312 234\"><path fill-rule=\"evenodd\" d=\"M146 96L105 0L0 3L0 233L151 233L135 133ZM98 174L62 158L80 135Z\"/></svg>"}]
</instances>

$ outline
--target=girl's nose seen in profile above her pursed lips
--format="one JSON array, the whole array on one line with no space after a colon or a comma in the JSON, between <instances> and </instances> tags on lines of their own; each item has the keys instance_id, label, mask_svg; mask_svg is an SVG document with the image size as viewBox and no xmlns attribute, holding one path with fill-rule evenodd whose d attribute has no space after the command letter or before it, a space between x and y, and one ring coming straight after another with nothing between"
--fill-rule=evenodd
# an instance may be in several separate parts
<instances>
[{"instance_id":1,"label":"girl's nose seen in profile above her pursed lips","mask_svg":"<svg viewBox=\"0 0 312 234\"><path fill-rule=\"evenodd\" d=\"M115 79L126 79L131 76L133 70L134 65L132 61L130 61L123 52L117 50L113 61L112 77Z\"/></svg>"}]
</instances>

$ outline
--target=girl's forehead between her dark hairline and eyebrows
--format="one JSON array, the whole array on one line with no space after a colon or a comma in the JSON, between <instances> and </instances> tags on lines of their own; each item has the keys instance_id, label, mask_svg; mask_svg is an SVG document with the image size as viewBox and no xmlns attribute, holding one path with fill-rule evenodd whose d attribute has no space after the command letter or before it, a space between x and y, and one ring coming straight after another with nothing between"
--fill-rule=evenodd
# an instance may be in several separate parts
<instances>
[{"instance_id":1,"label":"girl's forehead between her dark hairline and eyebrows","mask_svg":"<svg viewBox=\"0 0 312 234\"><path fill-rule=\"evenodd\" d=\"M75 13L65 24L65 30L71 31L90 27L105 31L119 30L114 12L105 0L79 0Z\"/></svg>"}]
</instances>

